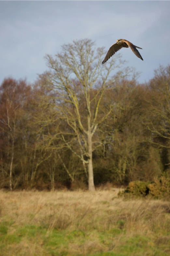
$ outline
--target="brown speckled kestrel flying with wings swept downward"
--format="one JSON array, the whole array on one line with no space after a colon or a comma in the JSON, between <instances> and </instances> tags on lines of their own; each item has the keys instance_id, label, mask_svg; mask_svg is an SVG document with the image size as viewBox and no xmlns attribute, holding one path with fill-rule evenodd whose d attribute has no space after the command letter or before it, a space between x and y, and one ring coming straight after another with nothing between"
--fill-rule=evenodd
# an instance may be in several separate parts
<instances>
[{"instance_id":1,"label":"brown speckled kestrel flying with wings swept downward","mask_svg":"<svg viewBox=\"0 0 170 256\"><path fill-rule=\"evenodd\" d=\"M136 49L136 47L139 48L139 49L142 49L142 48L140 48L140 47L134 45L133 43L131 43L131 42L125 40L125 39L118 39L118 40L116 41L116 43L114 43L114 44L110 47L110 49L108 50L108 52L107 52L107 54L106 54L106 56L105 56L105 59L102 61L102 64L104 64L108 59L110 59L110 57L113 56L113 54L115 54L117 51L119 51L119 50L120 50L121 48L123 48L123 47L126 47L126 48L130 47L131 50L133 51L133 53L135 53L135 55L136 55L138 58L140 58L141 60L143 60L143 59L142 59L142 56L140 55L140 53L138 52L138 50Z\"/></svg>"}]
</instances>

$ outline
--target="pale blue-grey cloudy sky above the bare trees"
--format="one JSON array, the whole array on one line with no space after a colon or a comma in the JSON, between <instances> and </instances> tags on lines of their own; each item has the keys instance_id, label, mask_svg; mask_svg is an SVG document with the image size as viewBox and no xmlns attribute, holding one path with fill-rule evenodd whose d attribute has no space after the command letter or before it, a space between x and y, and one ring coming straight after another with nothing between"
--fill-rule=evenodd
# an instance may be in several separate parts
<instances>
[{"instance_id":1,"label":"pale blue-grey cloudy sky above the bare trees","mask_svg":"<svg viewBox=\"0 0 170 256\"><path fill-rule=\"evenodd\" d=\"M120 51L142 72L139 82L148 81L159 64L170 64L170 1L0 1L0 83L9 76L34 82L47 70L45 54L83 38L106 50L120 38L143 48L144 61Z\"/></svg>"}]
</instances>

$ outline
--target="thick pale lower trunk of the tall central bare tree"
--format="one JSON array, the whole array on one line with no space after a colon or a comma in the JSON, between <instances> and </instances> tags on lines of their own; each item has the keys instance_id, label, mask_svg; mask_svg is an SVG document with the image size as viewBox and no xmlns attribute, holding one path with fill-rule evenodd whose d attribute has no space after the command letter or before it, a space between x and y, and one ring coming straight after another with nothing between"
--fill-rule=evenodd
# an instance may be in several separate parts
<instances>
[{"instance_id":1,"label":"thick pale lower trunk of the tall central bare tree","mask_svg":"<svg viewBox=\"0 0 170 256\"><path fill-rule=\"evenodd\" d=\"M88 131L88 173L89 173L89 191L95 191L94 187L94 178L93 178L93 165L92 165L92 134L91 131Z\"/></svg>"}]
</instances>

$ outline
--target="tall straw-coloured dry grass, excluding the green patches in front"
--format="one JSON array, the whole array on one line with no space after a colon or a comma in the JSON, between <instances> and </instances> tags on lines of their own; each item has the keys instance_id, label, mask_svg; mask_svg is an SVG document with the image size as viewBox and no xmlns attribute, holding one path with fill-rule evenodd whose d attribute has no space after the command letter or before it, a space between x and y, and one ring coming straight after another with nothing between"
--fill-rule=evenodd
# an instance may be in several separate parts
<instances>
[{"instance_id":1,"label":"tall straw-coloured dry grass, excluding the green patches in front","mask_svg":"<svg viewBox=\"0 0 170 256\"><path fill-rule=\"evenodd\" d=\"M89 238L81 248L79 245L69 245L70 255L76 255L80 251L86 255L99 250L110 250L110 245L108 247L107 244L101 244L97 238L94 239L94 236L96 232L109 232L113 228L125 230L126 236L129 237L134 235L153 237L155 243L161 243L161 239L170 238L170 236L167 237L168 230L170 233L170 202L145 199L123 200L116 197L118 192L118 189L94 193L81 191L6 193L1 191L0 221L12 220L11 232L12 227L16 226L41 226L46 229L46 237L56 229L87 232ZM155 232L157 232L156 236ZM114 248L120 245L122 236L123 233L120 233L115 237ZM35 243L34 246L30 246L30 250L35 252L27 255L44 255L43 252L39 253L40 249L38 253L36 252Z\"/></svg>"}]
</instances>

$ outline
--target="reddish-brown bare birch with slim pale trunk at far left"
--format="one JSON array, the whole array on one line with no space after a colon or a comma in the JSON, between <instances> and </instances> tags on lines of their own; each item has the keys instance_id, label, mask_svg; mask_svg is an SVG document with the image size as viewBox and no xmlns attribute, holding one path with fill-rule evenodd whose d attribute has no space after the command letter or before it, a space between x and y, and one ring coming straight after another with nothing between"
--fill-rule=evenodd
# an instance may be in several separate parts
<instances>
[{"instance_id":1,"label":"reddish-brown bare birch with slim pale trunk at far left","mask_svg":"<svg viewBox=\"0 0 170 256\"><path fill-rule=\"evenodd\" d=\"M9 169L9 187L12 190L12 172L14 168L14 154L16 141L20 137L20 123L22 119L22 107L24 97L30 87L25 80L16 81L12 78L4 79L0 87L0 131L6 137L6 145L3 145L7 154ZM21 95L23 98L21 98ZM4 140L5 141L5 140Z\"/></svg>"}]
</instances>

